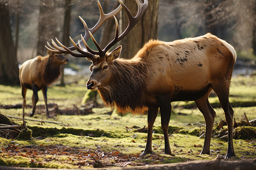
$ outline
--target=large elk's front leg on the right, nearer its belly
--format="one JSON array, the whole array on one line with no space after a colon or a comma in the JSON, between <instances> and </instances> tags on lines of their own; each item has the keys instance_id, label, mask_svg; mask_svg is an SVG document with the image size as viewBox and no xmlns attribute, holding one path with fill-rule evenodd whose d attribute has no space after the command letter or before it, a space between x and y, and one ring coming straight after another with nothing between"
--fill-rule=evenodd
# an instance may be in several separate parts
<instances>
[{"instance_id":1,"label":"large elk's front leg on the right, nearer its belly","mask_svg":"<svg viewBox=\"0 0 256 170\"><path fill-rule=\"evenodd\" d=\"M158 97L158 102L160 105L161 124L164 133L164 153L172 155L168 136L168 126L172 112L171 101L167 95L163 95Z\"/></svg>"}]
</instances>

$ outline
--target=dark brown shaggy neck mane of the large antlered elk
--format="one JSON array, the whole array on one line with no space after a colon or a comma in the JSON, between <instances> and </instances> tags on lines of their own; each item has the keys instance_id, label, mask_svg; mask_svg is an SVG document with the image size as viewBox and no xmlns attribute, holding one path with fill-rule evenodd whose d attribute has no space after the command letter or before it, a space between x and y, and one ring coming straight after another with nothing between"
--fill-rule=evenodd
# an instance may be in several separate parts
<instances>
[{"instance_id":1,"label":"dark brown shaggy neck mane of the large antlered elk","mask_svg":"<svg viewBox=\"0 0 256 170\"><path fill-rule=\"evenodd\" d=\"M118 112L146 112L142 94L147 70L144 62L116 59L113 66L113 82L98 90L101 98Z\"/></svg>"}]
</instances>

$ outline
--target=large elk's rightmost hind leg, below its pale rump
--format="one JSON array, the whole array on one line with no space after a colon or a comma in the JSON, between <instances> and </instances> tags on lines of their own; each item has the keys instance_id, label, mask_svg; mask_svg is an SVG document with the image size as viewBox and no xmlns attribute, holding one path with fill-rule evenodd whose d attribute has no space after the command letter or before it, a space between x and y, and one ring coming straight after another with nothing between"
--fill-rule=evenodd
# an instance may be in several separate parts
<instances>
[{"instance_id":1,"label":"large elk's rightmost hind leg, below its pale rump","mask_svg":"<svg viewBox=\"0 0 256 170\"><path fill-rule=\"evenodd\" d=\"M221 107L224 110L226 123L228 124L228 151L225 158L231 158L235 156L234 147L233 147L233 114L234 111L229 102L229 84L226 86L217 86L213 87L213 90L218 96Z\"/></svg>"}]
</instances>

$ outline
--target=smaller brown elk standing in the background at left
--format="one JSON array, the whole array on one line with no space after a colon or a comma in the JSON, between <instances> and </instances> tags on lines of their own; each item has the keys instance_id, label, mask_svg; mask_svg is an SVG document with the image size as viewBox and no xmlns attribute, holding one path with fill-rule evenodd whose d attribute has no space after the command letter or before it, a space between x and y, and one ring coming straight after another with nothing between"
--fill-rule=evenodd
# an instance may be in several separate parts
<instances>
[{"instance_id":1,"label":"smaller brown elk standing in the background at left","mask_svg":"<svg viewBox=\"0 0 256 170\"><path fill-rule=\"evenodd\" d=\"M27 89L33 91L32 95L32 112L34 116L36 103L38 103L38 91L42 89L44 103L46 105L46 116L49 117L47 105L47 86L55 82L60 76L60 66L68 63L69 59L62 54L56 54L48 50L47 56L37 56L25 61L19 69L20 86L22 87L23 108L26 105Z\"/></svg>"}]
</instances>

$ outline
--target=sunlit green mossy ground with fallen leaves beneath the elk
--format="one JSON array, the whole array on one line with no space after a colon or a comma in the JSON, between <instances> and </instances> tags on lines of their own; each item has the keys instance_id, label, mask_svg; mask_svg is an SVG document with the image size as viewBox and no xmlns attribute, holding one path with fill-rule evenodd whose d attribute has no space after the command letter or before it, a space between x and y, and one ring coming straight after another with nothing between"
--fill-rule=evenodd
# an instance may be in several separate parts
<instances>
[{"instance_id":1,"label":"sunlit green mossy ground with fallen leaves beneath the elk","mask_svg":"<svg viewBox=\"0 0 256 170\"><path fill-rule=\"evenodd\" d=\"M55 103L63 109L73 108L73 105L80 107L85 92L85 80L66 87L52 86L48 89L48 103ZM0 105L22 103L19 86L0 85L0 93ZM28 90L27 104L32 103L31 96L32 91ZM225 120L223 110L218 107L217 97L212 95L209 101L216 111L215 122ZM98 102L102 103L100 99ZM230 102L233 105L236 121L244 119L243 113L246 113L249 120L256 118L256 76L234 77L230 86ZM39 104L44 105L42 92L39 92ZM100 167L101 164L89 159L88 155L95 154L96 157L93 158L101 158L100 160L105 164L121 163L115 158L119 156L123 159L123 164L130 161L132 163L129 165L141 165L214 159L217 155L226 154L228 143L225 139L213 137L210 155L200 155L204 137L199 138L199 136L204 132L204 126L196 123L205 124L205 121L193 102L175 102L172 103L172 108L169 132L172 134L170 146L175 156L164 154L160 115L154 124L152 149L155 154L140 158L138 154L146 146L147 133L136 131L134 126L147 127L147 115L127 113L125 116L120 116L116 112L110 115L106 114L111 110L110 108L94 108L94 113L89 115L56 115L48 119L45 113L36 113L32 119L62 122L69 126L27 121L33 139L24 141L0 138L0 165L49 168ZM25 111L26 117L30 118L28 113L31 112L31 108L26 108ZM0 112L6 116L22 117L22 109L0 109ZM19 120L15 121L19 122ZM236 157L233 159L256 158L255 139L234 139L234 149ZM42 153L44 151L44 154L33 155L33 151L40 150ZM55 150L60 151L54 155ZM69 150L72 150L72 153ZM99 157L104 152L107 156Z\"/></svg>"}]
</instances>

